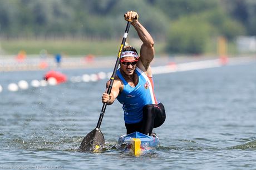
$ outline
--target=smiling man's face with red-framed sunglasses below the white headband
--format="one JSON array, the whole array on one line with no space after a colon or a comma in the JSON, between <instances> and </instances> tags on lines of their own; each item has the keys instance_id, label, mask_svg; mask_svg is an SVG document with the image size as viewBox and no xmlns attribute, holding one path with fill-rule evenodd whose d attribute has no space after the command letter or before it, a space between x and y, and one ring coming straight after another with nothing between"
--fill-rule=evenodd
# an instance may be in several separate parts
<instances>
[{"instance_id":1,"label":"smiling man's face with red-framed sunglasses below the white headband","mask_svg":"<svg viewBox=\"0 0 256 170\"><path fill-rule=\"evenodd\" d=\"M131 76L134 73L136 64L136 57L123 57L120 59L120 68L127 76Z\"/></svg>"}]
</instances>

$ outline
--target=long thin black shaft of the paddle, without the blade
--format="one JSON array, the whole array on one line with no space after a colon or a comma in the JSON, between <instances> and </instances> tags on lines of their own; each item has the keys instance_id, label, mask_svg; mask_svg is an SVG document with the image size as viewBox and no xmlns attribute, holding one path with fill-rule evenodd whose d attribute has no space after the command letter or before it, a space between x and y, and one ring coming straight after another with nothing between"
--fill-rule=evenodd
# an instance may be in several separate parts
<instances>
[{"instance_id":1,"label":"long thin black shaft of the paddle, without the blade","mask_svg":"<svg viewBox=\"0 0 256 170\"><path fill-rule=\"evenodd\" d=\"M128 36L128 32L129 32L130 26L131 26L131 22L128 21L127 25L126 25L126 28L125 28L124 37L122 38L122 43L121 43L121 46L120 46L120 49L119 49L119 52L118 52L118 55L117 55L115 68L114 68L114 71L113 71L112 76L110 78L110 85L107 88L107 94L111 93L112 86L113 86L113 83L114 83L114 79L115 79L115 76L116 76L116 71L117 71L117 68L119 67L119 63L120 63L120 56L121 56L121 53L122 53L122 51L124 49L126 38ZM101 122L102 122L104 113L106 111L106 107L107 107L107 103L103 103L103 106L102 106L102 109L101 109L101 113L100 113L100 118L99 118L99 121L98 121L97 126L96 126L96 128L98 128L98 129L101 126Z\"/></svg>"}]
</instances>

